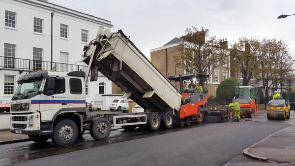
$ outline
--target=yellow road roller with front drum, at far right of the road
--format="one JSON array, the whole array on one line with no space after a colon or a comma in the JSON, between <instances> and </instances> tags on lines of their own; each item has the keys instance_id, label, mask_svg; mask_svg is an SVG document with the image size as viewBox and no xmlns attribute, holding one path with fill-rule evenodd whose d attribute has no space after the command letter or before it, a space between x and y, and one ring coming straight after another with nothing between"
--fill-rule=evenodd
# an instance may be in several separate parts
<instances>
[{"instance_id":1,"label":"yellow road roller with front drum, at far right of the road","mask_svg":"<svg viewBox=\"0 0 295 166\"><path fill-rule=\"evenodd\" d=\"M288 88L276 88L284 89L288 93L286 99L283 97L276 97L273 100L268 101L266 107L267 119L269 120L286 120L290 119L290 102L289 102L289 89Z\"/></svg>"}]
</instances>

